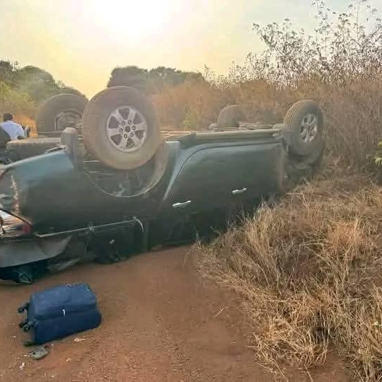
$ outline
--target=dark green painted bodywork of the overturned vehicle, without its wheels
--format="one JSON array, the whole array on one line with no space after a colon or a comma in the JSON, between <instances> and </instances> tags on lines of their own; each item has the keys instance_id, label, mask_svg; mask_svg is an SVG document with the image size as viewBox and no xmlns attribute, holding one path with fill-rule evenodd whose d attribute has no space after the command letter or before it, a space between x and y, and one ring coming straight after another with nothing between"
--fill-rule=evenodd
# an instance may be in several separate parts
<instances>
[{"instance_id":1,"label":"dark green painted bodywork of the overturned vehicle, without its wheels","mask_svg":"<svg viewBox=\"0 0 382 382\"><path fill-rule=\"evenodd\" d=\"M286 144L279 129L190 134L163 145L161 177L136 195L99 187L98 171L89 167L96 161L74 158L65 147L1 168L0 209L28 223L30 232L3 239L0 269L52 259L74 238L119 228L138 226L148 248L150 226L160 227L164 238L190 216L209 216L282 190ZM113 173L106 174L109 183Z\"/></svg>"}]
</instances>

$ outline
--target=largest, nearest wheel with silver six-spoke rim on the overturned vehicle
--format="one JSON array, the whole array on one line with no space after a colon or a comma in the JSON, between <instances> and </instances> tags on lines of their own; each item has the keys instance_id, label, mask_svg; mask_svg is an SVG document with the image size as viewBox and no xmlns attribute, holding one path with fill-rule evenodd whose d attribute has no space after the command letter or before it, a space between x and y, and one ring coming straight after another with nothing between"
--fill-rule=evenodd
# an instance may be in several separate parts
<instances>
[{"instance_id":1,"label":"largest, nearest wheel with silver six-spoke rim on the overturned vehicle","mask_svg":"<svg viewBox=\"0 0 382 382\"><path fill-rule=\"evenodd\" d=\"M82 132L86 149L106 166L119 170L143 166L163 140L149 99L124 86L107 88L89 101Z\"/></svg>"}]
</instances>

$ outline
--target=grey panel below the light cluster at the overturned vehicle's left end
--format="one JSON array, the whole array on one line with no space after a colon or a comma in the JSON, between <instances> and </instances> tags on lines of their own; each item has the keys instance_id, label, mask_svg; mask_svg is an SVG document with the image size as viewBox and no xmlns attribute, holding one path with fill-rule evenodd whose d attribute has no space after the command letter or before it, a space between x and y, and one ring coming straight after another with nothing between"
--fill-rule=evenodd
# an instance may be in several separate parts
<instances>
[{"instance_id":1,"label":"grey panel below the light cluster at the overturned vehicle's left end","mask_svg":"<svg viewBox=\"0 0 382 382\"><path fill-rule=\"evenodd\" d=\"M47 260L64 252L71 236L0 243L0 268Z\"/></svg>"}]
</instances>

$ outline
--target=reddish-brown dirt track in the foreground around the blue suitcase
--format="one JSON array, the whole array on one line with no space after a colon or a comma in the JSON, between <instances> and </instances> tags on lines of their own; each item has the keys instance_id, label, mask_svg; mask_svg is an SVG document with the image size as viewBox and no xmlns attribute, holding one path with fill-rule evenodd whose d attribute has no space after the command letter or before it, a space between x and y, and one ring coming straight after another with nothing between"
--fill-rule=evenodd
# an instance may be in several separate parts
<instances>
[{"instance_id":1,"label":"reddish-brown dirt track in the foreground around the blue suitcase","mask_svg":"<svg viewBox=\"0 0 382 382\"><path fill-rule=\"evenodd\" d=\"M201 279L188 251L83 265L27 287L1 285L0 380L272 380L245 347L250 331L235 298ZM17 306L33 291L72 282L91 284L103 324L54 342L45 359L24 357L30 349L21 345ZM84 340L74 342L76 337ZM318 370L314 379L345 381L342 367L336 362L330 371ZM288 376L308 381L300 371Z\"/></svg>"}]
</instances>

